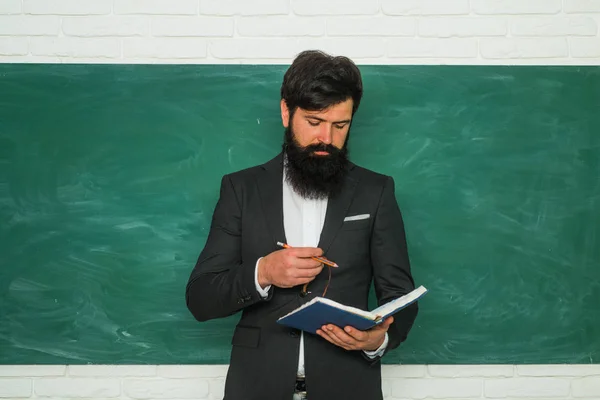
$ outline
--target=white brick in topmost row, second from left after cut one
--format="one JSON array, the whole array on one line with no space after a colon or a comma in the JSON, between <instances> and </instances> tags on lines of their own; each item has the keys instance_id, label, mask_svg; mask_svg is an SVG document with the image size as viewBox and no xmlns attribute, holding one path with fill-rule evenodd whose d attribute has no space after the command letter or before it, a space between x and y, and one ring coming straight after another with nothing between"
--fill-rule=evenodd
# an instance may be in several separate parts
<instances>
[{"instance_id":1,"label":"white brick in topmost row, second from left after cut one","mask_svg":"<svg viewBox=\"0 0 600 400\"><path fill-rule=\"evenodd\" d=\"M112 1L23 0L23 11L25 14L106 15L112 12Z\"/></svg>"}]
</instances>

